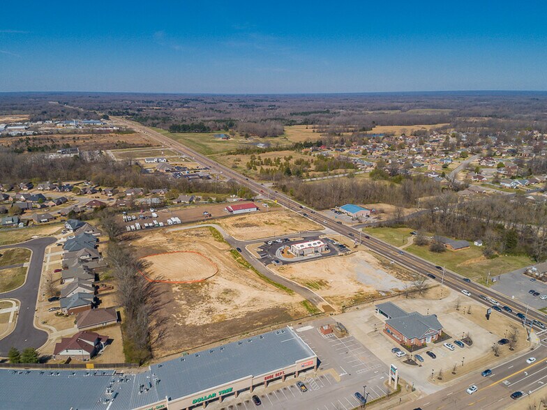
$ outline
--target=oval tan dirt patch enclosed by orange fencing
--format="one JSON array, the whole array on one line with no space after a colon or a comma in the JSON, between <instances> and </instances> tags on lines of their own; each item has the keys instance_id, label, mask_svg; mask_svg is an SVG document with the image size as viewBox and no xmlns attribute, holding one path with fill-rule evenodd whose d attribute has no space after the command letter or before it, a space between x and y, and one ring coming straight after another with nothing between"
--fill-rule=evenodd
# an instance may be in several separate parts
<instances>
[{"instance_id":1,"label":"oval tan dirt patch enclosed by orange fencing","mask_svg":"<svg viewBox=\"0 0 547 410\"><path fill-rule=\"evenodd\" d=\"M197 252L160 253L140 260L147 263L147 278L158 282L198 282L218 272L218 266Z\"/></svg>"}]
</instances>

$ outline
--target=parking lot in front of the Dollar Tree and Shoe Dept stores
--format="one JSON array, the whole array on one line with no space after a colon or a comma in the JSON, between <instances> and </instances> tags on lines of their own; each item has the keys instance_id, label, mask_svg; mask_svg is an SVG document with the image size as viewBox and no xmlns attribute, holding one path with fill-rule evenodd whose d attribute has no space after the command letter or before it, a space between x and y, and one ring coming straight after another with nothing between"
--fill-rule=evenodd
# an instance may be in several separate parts
<instances>
[{"instance_id":1,"label":"parking lot in front of the Dollar Tree and Shoe Dept stores","mask_svg":"<svg viewBox=\"0 0 547 410\"><path fill-rule=\"evenodd\" d=\"M321 324L326 323L323 319ZM263 409L317 409L350 410L358 407L354 393L364 393L368 400L387 393L388 367L354 337L338 338L334 334L322 335L314 326L297 328L300 337L315 351L321 363L317 373L307 372L298 379L274 381L267 388L255 388L253 393L229 397L223 403L210 404L212 409L254 409L251 397L257 395ZM308 391L302 392L297 381L304 381Z\"/></svg>"}]
</instances>

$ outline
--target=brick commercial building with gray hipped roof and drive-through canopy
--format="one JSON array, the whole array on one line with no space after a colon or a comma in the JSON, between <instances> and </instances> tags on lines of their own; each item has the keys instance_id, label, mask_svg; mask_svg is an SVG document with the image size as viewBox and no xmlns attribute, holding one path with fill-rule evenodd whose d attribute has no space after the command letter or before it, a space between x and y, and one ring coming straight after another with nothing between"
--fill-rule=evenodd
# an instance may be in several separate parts
<instances>
[{"instance_id":1,"label":"brick commercial building with gray hipped roof and drive-through canopy","mask_svg":"<svg viewBox=\"0 0 547 410\"><path fill-rule=\"evenodd\" d=\"M387 318L384 332L400 344L421 346L442 335L442 325L435 314L407 313L391 302L376 305L376 312Z\"/></svg>"}]
</instances>

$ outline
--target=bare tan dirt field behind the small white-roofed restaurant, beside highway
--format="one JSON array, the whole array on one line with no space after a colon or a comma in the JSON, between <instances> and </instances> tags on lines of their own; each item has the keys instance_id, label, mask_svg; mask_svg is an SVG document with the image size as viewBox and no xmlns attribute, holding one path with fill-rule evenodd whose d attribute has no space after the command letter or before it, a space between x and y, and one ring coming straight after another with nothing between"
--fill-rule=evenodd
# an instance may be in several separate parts
<instances>
[{"instance_id":1,"label":"bare tan dirt field behind the small white-roofed restaurant, beside highway","mask_svg":"<svg viewBox=\"0 0 547 410\"><path fill-rule=\"evenodd\" d=\"M284 208L270 208L270 211L246 213L215 222L240 241L323 229L321 225Z\"/></svg>"}]
</instances>

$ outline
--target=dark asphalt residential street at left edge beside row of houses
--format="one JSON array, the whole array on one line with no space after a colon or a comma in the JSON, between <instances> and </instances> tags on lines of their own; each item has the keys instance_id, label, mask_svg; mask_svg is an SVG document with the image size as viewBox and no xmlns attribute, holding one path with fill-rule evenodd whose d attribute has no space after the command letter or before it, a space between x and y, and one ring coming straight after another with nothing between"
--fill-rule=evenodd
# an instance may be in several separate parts
<instances>
[{"instance_id":1,"label":"dark asphalt residential street at left edge beside row of houses","mask_svg":"<svg viewBox=\"0 0 547 410\"><path fill-rule=\"evenodd\" d=\"M38 301L38 288L40 276L42 275L45 248L55 243L55 241L57 241L56 238L45 237L0 247L0 249L27 248L32 251L29 271L27 271L27 282L24 282L22 287L0 294L1 299L12 298L20 301L15 329L0 340L0 356L8 356L11 347L17 347L20 351L25 347L38 349L47 341L47 332L34 327L34 312Z\"/></svg>"}]
</instances>

